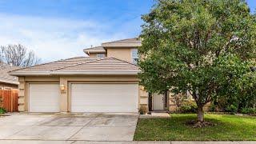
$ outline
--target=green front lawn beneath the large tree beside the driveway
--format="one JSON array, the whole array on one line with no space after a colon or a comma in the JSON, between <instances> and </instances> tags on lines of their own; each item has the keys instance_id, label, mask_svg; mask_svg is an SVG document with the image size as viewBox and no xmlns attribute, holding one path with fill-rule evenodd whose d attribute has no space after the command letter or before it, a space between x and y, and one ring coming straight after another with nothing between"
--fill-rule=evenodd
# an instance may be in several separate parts
<instances>
[{"instance_id":1,"label":"green front lawn beneath the large tree beside the driveway","mask_svg":"<svg viewBox=\"0 0 256 144\"><path fill-rule=\"evenodd\" d=\"M139 119L134 135L136 141L210 141L256 140L256 117L206 114L208 122L217 126L192 128L184 122L196 114L170 114L171 118Z\"/></svg>"}]
</instances>

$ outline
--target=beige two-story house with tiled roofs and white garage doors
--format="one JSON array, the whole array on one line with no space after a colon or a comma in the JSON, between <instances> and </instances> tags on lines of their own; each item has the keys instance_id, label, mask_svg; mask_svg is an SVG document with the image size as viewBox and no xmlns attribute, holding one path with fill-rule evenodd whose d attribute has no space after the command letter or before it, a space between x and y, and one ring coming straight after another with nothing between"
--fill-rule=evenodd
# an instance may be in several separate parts
<instances>
[{"instance_id":1,"label":"beige two-story house with tiled roofs and white garage doors","mask_svg":"<svg viewBox=\"0 0 256 144\"><path fill-rule=\"evenodd\" d=\"M14 70L18 110L28 112L138 112L169 110L168 97L139 86L138 38L102 43L87 57Z\"/></svg>"}]
</instances>

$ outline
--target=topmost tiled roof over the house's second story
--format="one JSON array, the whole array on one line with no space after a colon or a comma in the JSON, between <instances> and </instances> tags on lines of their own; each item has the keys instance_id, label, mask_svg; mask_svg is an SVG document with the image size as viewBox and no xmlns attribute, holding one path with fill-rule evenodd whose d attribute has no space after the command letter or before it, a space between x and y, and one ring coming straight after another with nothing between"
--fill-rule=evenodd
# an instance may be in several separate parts
<instances>
[{"instance_id":1,"label":"topmost tiled roof over the house's second story","mask_svg":"<svg viewBox=\"0 0 256 144\"><path fill-rule=\"evenodd\" d=\"M113 42L102 43L103 47L138 47L142 46L142 42L139 38L127 38Z\"/></svg>"}]
</instances>

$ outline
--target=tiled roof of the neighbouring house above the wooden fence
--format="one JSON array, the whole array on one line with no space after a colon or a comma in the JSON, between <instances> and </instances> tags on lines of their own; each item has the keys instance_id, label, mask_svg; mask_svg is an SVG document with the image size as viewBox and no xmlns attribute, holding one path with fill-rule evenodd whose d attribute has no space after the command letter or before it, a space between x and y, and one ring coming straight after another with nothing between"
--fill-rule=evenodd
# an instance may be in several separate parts
<instances>
[{"instance_id":1,"label":"tiled roof of the neighbouring house above the wooden fence","mask_svg":"<svg viewBox=\"0 0 256 144\"><path fill-rule=\"evenodd\" d=\"M0 82L18 85L18 77L8 74L10 70L17 70L17 66L10 66L6 63L0 62Z\"/></svg>"}]
</instances>

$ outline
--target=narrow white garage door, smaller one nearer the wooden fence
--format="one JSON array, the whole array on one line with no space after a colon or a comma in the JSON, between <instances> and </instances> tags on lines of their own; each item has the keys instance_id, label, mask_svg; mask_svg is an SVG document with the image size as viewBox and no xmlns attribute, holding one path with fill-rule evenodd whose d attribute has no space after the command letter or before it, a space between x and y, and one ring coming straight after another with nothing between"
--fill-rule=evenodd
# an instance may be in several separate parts
<instances>
[{"instance_id":1,"label":"narrow white garage door, smaller one nearer the wooden fence","mask_svg":"<svg viewBox=\"0 0 256 144\"><path fill-rule=\"evenodd\" d=\"M59 112L58 84L30 84L30 112Z\"/></svg>"}]
</instances>

